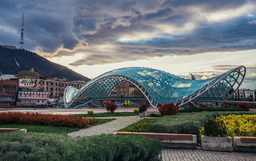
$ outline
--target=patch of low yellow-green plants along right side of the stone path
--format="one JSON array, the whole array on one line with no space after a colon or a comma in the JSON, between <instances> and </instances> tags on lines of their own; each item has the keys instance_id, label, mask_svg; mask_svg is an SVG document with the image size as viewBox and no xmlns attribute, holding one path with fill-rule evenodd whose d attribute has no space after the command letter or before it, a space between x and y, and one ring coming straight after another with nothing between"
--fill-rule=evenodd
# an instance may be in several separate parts
<instances>
[{"instance_id":1,"label":"patch of low yellow-green plants along right side of the stone path","mask_svg":"<svg viewBox=\"0 0 256 161\"><path fill-rule=\"evenodd\" d=\"M144 118L141 121L138 121L135 124L131 124L130 126L127 126L123 129L120 129L120 131L124 132L147 132L148 126L150 124L153 124L157 119L151 119L151 118Z\"/></svg>"}]
</instances>

